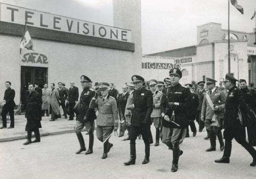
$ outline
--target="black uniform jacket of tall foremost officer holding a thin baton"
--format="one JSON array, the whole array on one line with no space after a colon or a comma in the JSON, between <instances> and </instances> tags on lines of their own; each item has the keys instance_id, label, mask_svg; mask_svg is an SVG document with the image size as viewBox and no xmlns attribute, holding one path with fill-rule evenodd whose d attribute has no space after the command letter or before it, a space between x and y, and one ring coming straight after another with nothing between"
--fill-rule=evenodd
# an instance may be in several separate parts
<instances>
[{"instance_id":1,"label":"black uniform jacket of tall foremost officer holding a thin baton","mask_svg":"<svg viewBox=\"0 0 256 179\"><path fill-rule=\"evenodd\" d=\"M168 102L176 102L175 108L169 108ZM178 83L175 86L165 88L163 92L163 97L161 99L161 114L168 115L169 118L172 118L172 112L175 112L175 122L180 125L177 126L173 122L168 122L163 119L163 126L169 128L186 128L188 126L188 113L189 108L192 105L192 96L187 88L184 85Z\"/></svg>"}]
</instances>

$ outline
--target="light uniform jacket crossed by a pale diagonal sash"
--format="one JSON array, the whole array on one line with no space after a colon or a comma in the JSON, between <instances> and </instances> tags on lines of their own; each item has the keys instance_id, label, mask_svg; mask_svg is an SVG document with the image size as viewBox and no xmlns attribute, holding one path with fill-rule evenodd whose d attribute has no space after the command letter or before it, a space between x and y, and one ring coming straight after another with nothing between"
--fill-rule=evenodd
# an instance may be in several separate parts
<instances>
[{"instance_id":1,"label":"light uniform jacket crossed by a pale diagonal sash","mask_svg":"<svg viewBox=\"0 0 256 179\"><path fill-rule=\"evenodd\" d=\"M210 94L210 90L208 90L206 94L209 95L213 105L218 106L217 118L223 119L224 117L223 110L225 108L225 102L226 102L226 95L224 94L224 92L216 88L212 92L212 94ZM209 106L209 102L206 98L206 94L204 95L201 116L205 116L205 119L212 119L212 116L215 111L213 111L212 108Z\"/></svg>"}]
</instances>

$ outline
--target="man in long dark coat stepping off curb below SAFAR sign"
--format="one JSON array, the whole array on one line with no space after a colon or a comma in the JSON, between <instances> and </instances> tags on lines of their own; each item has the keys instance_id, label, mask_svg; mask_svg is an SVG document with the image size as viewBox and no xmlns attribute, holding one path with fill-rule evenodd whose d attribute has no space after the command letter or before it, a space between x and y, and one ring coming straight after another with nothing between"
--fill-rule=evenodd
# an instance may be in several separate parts
<instances>
[{"instance_id":1,"label":"man in long dark coat stepping off curb below SAFAR sign","mask_svg":"<svg viewBox=\"0 0 256 179\"><path fill-rule=\"evenodd\" d=\"M41 105L42 98L40 94L35 91L35 85L29 85L29 95L26 100L26 114L27 119L26 128L27 131L27 140L23 145L28 145L32 142L40 142L40 133L39 128L41 126ZM31 141L32 131L35 134L35 140Z\"/></svg>"}]
</instances>

